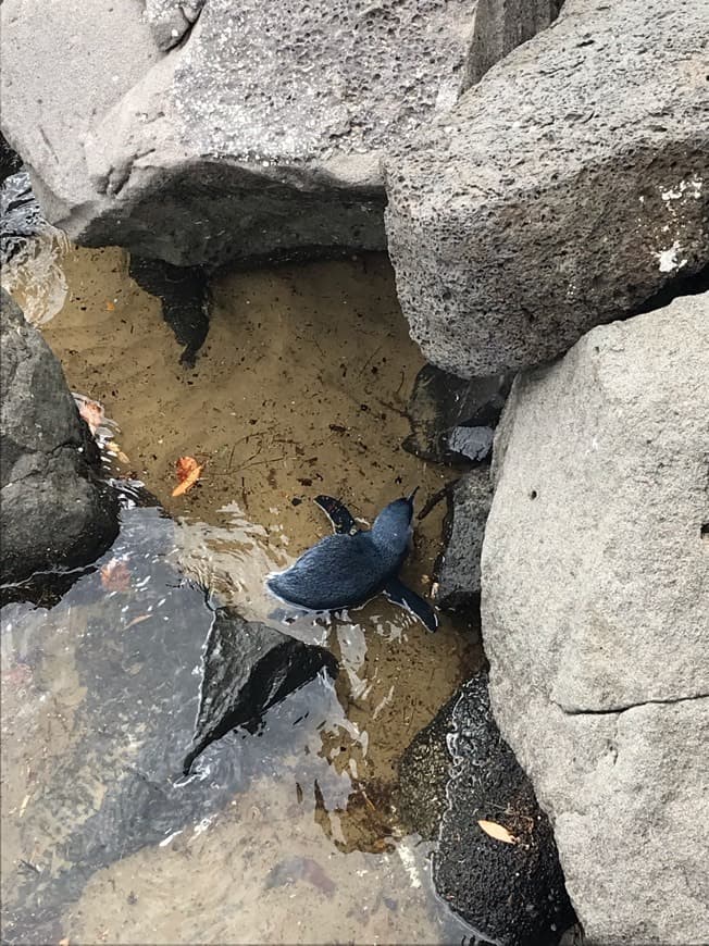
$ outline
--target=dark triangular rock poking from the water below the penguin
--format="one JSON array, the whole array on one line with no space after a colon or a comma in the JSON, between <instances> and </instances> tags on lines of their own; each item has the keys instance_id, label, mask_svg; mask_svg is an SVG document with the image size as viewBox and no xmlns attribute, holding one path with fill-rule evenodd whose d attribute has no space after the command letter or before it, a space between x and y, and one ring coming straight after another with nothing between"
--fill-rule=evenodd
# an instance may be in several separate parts
<instances>
[{"instance_id":1,"label":"dark triangular rock poking from the water below the penguin","mask_svg":"<svg viewBox=\"0 0 709 946\"><path fill-rule=\"evenodd\" d=\"M217 608L202 657L202 685L188 774L207 746L236 726L253 726L265 711L321 670L337 673L324 647L296 640L260 621L245 621L234 608Z\"/></svg>"}]
</instances>

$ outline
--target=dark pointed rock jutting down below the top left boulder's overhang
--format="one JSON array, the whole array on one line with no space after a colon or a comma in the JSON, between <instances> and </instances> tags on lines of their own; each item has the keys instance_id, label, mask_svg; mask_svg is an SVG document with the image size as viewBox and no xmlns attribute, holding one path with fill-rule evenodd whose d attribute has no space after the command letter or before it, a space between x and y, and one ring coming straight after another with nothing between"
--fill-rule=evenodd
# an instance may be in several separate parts
<instances>
[{"instance_id":1,"label":"dark pointed rock jutting down below the top left boulder's overhang","mask_svg":"<svg viewBox=\"0 0 709 946\"><path fill-rule=\"evenodd\" d=\"M209 283L200 266L173 266L162 260L130 257L132 279L162 302L162 318L185 350L179 363L194 368L209 333Z\"/></svg>"}]
</instances>

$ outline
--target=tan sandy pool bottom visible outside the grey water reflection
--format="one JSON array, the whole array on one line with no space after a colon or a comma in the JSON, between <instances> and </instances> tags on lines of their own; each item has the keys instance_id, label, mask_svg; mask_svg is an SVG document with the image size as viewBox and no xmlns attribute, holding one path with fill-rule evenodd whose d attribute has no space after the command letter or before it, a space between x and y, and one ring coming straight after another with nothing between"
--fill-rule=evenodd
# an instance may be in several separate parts
<instances>
[{"instance_id":1,"label":"tan sandy pool bottom visible outside the grey water reflection","mask_svg":"<svg viewBox=\"0 0 709 946\"><path fill-rule=\"evenodd\" d=\"M129 278L124 253L71 249L63 271L66 301L42 331L70 386L119 424L121 472L175 519L183 568L246 618L287 630L263 577L327 532L315 495L339 497L371 522L413 486L423 503L450 478L400 446L423 361L386 259L222 274L194 369L179 364L160 302ZM173 499L182 456L204 472ZM443 512L418 523L402 575L424 595ZM303 620L289 630L340 661L348 726L323 751L343 777L376 786L376 807L393 797L411 738L480 664L475 638L447 618L427 634L384 600L329 630ZM23 762L12 798L23 797L27 758L46 751L46 738L38 726L36 743L5 750L5 763ZM365 831L352 813L329 812L325 829L297 794L287 779L264 779L207 830L99 871L67 908L65 932L115 943L434 943L456 929L460 938L432 892L425 846L398 837L388 809Z\"/></svg>"}]
</instances>

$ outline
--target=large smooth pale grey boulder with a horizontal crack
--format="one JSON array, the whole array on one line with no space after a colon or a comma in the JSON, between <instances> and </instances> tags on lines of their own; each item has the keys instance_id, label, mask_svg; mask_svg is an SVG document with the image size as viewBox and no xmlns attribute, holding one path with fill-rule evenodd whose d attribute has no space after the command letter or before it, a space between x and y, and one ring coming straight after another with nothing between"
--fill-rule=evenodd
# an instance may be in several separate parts
<instances>
[{"instance_id":1,"label":"large smooth pale grey boulder with a horizontal crack","mask_svg":"<svg viewBox=\"0 0 709 946\"><path fill-rule=\"evenodd\" d=\"M709 295L518 377L483 639L593 944L709 941Z\"/></svg>"}]
</instances>

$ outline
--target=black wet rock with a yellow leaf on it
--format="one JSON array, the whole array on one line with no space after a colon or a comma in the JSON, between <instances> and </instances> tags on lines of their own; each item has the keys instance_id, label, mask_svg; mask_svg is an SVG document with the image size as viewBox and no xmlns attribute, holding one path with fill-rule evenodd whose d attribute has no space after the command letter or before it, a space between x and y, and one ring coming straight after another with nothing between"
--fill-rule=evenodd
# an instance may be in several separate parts
<instances>
[{"instance_id":1,"label":"black wet rock with a yellow leaf on it","mask_svg":"<svg viewBox=\"0 0 709 946\"><path fill-rule=\"evenodd\" d=\"M405 754L403 813L424 836L439 821L436 889L485 941L552 946L574 922L551 826L500 737L487 676L467 683ZM410 794L409 794L410 793ZM480 820L514 838L490 837Z\"/></svg>"}]
</instances>

